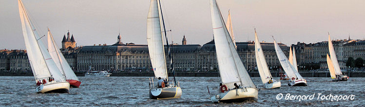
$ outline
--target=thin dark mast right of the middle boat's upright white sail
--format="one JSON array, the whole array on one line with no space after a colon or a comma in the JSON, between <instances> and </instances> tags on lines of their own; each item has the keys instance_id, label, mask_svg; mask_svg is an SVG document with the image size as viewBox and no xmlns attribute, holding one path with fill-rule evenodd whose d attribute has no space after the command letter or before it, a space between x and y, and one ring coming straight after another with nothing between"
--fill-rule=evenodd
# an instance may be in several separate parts
<instances>
[{"instance_id":1,"label":"thin dark mast right of the middle boat's upright white sail","mask_svg":"<svg viewBox=\"0 0 365 107\"><path fill-rule=\"evenodd\" d=\"M163 25L163 32L165 34L165 38L166 38L166 45L167 45L167 52L169 53L169 58L170 58L170 66L171 66L171 71L173 71L173 81L176 85L176 80L175 80L175 71L173 69L173 58L171 57L171 51L170 51L170 47L169 47L169 40L167 39L167 34L166 34L166 27L165 27L165 21L163 19L163 15L162 15L162 8L161 8L161 1L158 0L158 4L160 5L160 12L161 12L161 19L162 19L162 25ZM168 71L166 71L166 80L167 82L169 82L169 77L168 77Z\"/></svg>"}]
</instances>

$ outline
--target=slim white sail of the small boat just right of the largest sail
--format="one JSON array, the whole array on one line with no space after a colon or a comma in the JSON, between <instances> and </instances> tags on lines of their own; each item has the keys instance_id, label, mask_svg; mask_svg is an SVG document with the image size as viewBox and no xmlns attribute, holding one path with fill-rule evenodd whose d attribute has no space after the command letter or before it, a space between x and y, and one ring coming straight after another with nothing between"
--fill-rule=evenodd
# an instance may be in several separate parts
<instances>
[{"instance_id":1,"label":"slim white sail of the small boat just right of the largest sail","mask_svg":"<svg viewBox=\"0 0 365 107\"><path fill-rule=\"evenodd\" d=\"M257 37L256 29L255 29L255 56L256 56L256 65L257 70L259 71L262 83L267 83L272 78L271 73L268 68L268 64L265 60L264 52L261 48L261 44Z\"/></svg>"}]
</instances>

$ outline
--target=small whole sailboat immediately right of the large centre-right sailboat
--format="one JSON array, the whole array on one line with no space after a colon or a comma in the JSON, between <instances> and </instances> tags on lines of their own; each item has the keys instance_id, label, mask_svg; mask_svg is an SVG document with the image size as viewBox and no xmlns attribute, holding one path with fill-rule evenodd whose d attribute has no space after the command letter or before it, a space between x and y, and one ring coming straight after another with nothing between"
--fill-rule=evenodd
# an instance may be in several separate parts
<instances>
[{"instance_id":1,"label":"small whole sailboat immediately right of the large centre-right sailboat","mask_svg":"<svg viewBox=\"0 0 365 107\"><path fill-rule=\"evenodd\" d=\"M261 44L257 37L255 29L255 56L257 70L259 71L261 81L265 85L266 89L275 89L281 87L281 82L272 79L271 73L269 71L268 64L266 63L264 52L261 48Z\"/></svg>"}]
</instances>

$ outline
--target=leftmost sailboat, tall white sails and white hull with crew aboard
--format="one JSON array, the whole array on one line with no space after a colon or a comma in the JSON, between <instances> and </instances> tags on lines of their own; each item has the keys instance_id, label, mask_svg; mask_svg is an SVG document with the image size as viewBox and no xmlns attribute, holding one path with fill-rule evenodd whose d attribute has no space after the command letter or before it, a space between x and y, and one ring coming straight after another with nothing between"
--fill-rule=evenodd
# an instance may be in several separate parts
<instances>
[{"instance_id":1,"label":"leftmost sailboat, tall white sails and white hull with crew aboard","mask_svg":"<svg viewBox=\"0 0 365 107\"><path fill-rule=\"evenodd\" d=\"M36 92L38 93L68 93L70 84L66 81L61 71L52 60L45 48L41 37L31 23L31 19L25 10L24 4L18 0L21 28L27 49L30 66L36 80Z\"/></svg>"}]
</instances>

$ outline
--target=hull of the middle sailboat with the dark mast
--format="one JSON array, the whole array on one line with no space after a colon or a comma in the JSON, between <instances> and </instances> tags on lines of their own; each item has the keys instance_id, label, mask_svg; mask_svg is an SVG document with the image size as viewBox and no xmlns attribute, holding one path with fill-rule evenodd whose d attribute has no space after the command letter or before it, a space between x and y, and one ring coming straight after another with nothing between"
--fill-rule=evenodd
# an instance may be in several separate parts
<instances>
[{"instance_id":1,"label":"hull of the middle sailboat with the dark mast","mask_svg":"<svg viewBox=\"0 0 365 107\"><path fill-rule=\"evenodd\" d=\"M180 87L150 89L150 99L175 99L182 94Z\"/></svg>"}]
</instances>

